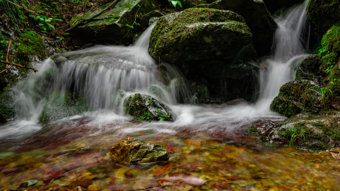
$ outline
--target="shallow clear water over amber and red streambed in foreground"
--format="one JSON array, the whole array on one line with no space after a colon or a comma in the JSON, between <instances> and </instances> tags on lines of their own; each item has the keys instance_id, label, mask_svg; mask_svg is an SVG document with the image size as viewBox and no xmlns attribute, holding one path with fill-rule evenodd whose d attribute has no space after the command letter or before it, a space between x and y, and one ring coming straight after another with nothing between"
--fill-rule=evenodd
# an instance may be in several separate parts
<instances>
[{"instance_id":1,"label":"shallow clear water over amber and red streambed in foreground","mask_svg":"<svg viewBox=\"0 0 340 191\"><path fill-rule=\"evenodd\" d=\"M74 117L25 139L2 141L1 190L28 180L39 182L27 191L66 191L77 185L108 191L311 191L340 186L340 161L325 152L263 147L257 137L225 133L223 127L200 131L204 127L183 123L170 128L112 114L98 116ZM110 147L127 136L165 145L169 163L113 163Z\"/></svg>"}]
</instances>

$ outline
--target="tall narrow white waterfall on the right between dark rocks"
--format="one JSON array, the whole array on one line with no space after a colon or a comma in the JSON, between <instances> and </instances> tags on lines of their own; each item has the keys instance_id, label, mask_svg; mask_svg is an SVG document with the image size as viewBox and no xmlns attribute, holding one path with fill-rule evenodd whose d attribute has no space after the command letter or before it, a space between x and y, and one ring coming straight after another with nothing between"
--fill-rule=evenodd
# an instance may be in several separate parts
<instances>
[{"instance_id":1,"label":"tall narrow white waterfall on the right between dark rocks","mask_svg":"<svg viewBox=\"0 0 340 191\"><path fill-rule=\"evenodd\" d=\"M304 53L309 40L307 4L305 0L275 19L278 28L273 38L273 56L261 63L260 96L256 104L261 111L269 110L280 87L294 80L295 68L308 56Z\"/></svg>"}]
</instances>

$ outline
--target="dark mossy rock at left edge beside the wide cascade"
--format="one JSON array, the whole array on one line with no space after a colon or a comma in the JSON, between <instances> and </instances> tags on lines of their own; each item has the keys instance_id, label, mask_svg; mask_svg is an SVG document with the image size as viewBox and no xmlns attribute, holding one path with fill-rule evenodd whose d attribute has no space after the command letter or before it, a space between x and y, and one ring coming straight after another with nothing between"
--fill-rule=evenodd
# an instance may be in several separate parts
<instances>
[{"instance_id":1,"label":"dark mossy rock at left edge beside the wide cascade","mask_svg":"<svg viewBox=\"0 0 340 191\"><path fill-rule=\"evenodd\" d=\"M14 118L14 94L9 87L5 87L0 94L0 124L13 121Z\"/></svg>"}]
</instances>

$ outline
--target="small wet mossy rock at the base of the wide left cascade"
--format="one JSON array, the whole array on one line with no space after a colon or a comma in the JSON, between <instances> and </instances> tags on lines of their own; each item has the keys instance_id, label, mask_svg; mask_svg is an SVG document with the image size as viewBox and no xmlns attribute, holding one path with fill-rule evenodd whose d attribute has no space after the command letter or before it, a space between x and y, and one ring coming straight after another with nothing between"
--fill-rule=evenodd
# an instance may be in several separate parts
<instances>
[{"instance_id":1,"label":"small wet mossy rock at the base of the wide left cascade","mask_svg":"<svg viewBox=\"0 0 340 191\"><path fill-rule=\"evenodd\" d=\"M155 98L136 93L124 100L124 111L144 121L172 121L169 109Z\"/></svg>"}]
</instances>

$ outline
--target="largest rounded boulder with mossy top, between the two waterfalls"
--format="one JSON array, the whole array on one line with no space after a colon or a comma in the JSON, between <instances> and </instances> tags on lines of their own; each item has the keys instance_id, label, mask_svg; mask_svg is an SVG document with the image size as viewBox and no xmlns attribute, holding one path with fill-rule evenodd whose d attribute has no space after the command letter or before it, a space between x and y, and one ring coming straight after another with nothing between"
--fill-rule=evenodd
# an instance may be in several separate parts
<instances>
[{"instance_id":1,"label":"largest rounded boulder with mossy top, between the two waterfalls","mask_svg":"<svg viewBox=\"0 0 340 191\"><path fill-rule=\"evenodd\" d=\"M176 64L233 59L252 43L252 33L240 15L225 10L189 8L161 17L152 31L149 53Z\"/></svg>"}]
</instances>

